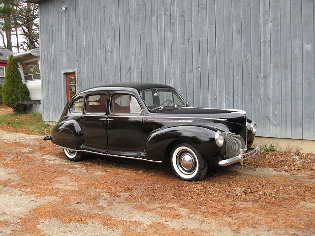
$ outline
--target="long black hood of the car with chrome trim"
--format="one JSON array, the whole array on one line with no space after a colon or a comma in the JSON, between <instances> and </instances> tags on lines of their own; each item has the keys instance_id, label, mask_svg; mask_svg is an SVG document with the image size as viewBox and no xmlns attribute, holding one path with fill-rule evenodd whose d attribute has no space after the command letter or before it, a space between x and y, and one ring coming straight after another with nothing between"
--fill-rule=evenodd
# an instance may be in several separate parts
<instances>
[{"instance_id":1,"label":"long black hood of the car with chrome trim","mask_svg":"<svg viewBox=\"0 0 315 236\"><path fill-rule=\"evenodd\" d=\"M168 118L198 118L198 120L218 120L222 122L237 123L246 126L246 112L235 109L178 107L172 110L162 110L154 114L155 117L166 116Z\"/></svg>"}]
</instances>

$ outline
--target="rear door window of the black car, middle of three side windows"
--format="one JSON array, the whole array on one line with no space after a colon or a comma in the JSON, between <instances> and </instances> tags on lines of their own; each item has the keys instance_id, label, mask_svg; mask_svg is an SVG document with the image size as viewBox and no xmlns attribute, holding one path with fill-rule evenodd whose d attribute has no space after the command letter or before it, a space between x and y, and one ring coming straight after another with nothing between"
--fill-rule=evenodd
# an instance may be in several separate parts
<instances>
[{"instance_id":1,"label":"rear door window of the black car, middle of three side windows","mask_svg":"<svg viewBox=\"0 0 315 236\"><path fill-rule=\"evenodd\" d=\"M87 97L87 113L106 113L107 94L90 95Z\"/></svg>"}]
</instances>

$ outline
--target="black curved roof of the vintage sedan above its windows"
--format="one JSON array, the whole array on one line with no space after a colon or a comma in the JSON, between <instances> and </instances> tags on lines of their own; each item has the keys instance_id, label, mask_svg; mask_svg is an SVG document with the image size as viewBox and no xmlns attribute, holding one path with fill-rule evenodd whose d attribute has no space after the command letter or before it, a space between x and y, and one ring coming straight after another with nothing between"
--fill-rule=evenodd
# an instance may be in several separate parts
<instances>
[{"instance_id":1,"label":"black curved roof of the vintage sedan above its windows","mask_svg":"<svg viewBox=\"0 0 315 236\"><path fill-rule=\"evenodd\" d=\"M138 92L145 89L156 89L156 88L174 89L171 86L162 85L162 84L129 82L129 83L116 83L116 84L96 86L90 89L83 90L80 93L88 92L88 91L95 91L98 89L119 89L119 88L136 89Z\"/></svg>"}]
</instances>

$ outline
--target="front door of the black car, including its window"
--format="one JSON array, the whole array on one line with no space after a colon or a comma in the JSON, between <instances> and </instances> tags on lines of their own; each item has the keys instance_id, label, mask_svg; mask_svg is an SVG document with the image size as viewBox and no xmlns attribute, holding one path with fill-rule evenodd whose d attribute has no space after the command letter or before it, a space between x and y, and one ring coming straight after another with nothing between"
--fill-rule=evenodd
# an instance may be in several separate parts
<instances>
[{"instance_id":1,"label":"front door of the black car, including its window","mask_svg":"<svg viewBox=\"0 0 315 236\"><path fill-rule=\"evenodd\" d=\"M143 155L143 110L132 92L111 91L107 120L108 155Z\"/></svg>"}]
</instances>

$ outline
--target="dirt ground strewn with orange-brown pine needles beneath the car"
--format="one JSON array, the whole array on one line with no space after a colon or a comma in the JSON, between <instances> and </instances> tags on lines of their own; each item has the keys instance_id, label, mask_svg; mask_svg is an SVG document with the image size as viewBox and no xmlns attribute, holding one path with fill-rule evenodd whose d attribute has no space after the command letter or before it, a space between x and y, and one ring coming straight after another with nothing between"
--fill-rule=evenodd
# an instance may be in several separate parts
<instances>
[{"instance_id":1,"label":"dirt ground strewn with orange-brown pine needles beneath the car","mask_svg":"<svg viewBox=\"0 0 315 236\"><path fill-rule=\"evenodd\" d=\"M263 153L185 182L161 164L68 161L0 130L0 236L315 235L315 155Z\"/></svg>"}]
</instances>

